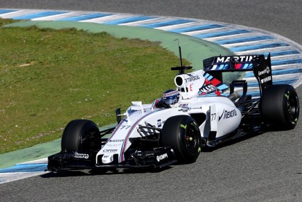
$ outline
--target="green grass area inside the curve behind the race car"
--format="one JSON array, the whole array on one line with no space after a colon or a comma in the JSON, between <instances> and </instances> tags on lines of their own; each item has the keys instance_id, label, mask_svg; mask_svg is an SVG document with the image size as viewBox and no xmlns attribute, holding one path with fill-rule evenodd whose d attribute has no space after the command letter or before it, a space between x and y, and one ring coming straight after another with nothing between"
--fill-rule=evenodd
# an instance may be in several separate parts
<instances>
[{"instance_id":1,"label":"green grass area inside the curve behind the race car","mask_svg":"<svg viewBox=\"0 0 302 202\"><path fill-rule=\"evenodd\" d=\"M2 27L0 44L0 153L60 138L72 119L112 124L116 108L174 87L178 58L156 42Z\"/></svg>"}]
</instances>

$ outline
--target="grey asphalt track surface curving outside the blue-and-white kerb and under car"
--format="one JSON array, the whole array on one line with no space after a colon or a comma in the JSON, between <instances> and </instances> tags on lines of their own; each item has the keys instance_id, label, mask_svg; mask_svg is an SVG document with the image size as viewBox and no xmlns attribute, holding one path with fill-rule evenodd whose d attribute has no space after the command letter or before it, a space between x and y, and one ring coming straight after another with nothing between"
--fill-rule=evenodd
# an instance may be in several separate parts
<instances>
[{"instance_id":1,"label":"grey asphalt track surface curving outside the blue-and-white kerb and under car","mask_svg":"<svg viewBox=\"0 0 302 202\"><path fill-rule=\"evenodd\" d=\"M261 28L302 44L302 1L3 1L0 8L128 12ZM298 87L300 103L302 87ZM0 185L0 201L302 201L301 115L270 132L159 173L44 174Z\"/></svg>"}]
</instances>

